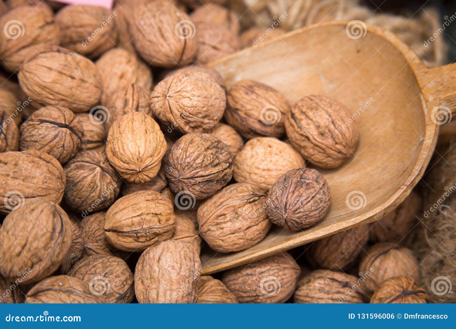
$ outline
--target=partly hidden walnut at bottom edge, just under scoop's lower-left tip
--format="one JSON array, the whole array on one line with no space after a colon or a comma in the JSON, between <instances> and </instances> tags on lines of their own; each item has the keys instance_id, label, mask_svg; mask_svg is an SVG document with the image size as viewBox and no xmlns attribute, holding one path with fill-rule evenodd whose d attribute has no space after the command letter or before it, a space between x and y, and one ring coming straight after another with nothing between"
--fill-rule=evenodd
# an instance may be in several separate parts
<instances>
[{"instance_id":1,"label":"partly hidden walnut at bottom edge, just under scoop's lower-left tip","mask_svg":"<svg viewBox=\"0 0 456 329\"><path fill-rule=\"evenodd\" d=\"M201 304L237 304L238 300L222 281L204 275L198 284L197 303Z\"/></svg>"}]
</instances>

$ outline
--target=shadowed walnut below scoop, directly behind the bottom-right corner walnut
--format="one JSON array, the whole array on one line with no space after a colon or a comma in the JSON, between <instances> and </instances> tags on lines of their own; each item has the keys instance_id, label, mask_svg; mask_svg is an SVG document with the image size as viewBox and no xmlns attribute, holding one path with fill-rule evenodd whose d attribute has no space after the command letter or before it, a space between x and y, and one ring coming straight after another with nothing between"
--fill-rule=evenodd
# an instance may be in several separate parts
<instances>
[{"instance_id":1,"label":"shadowed walnut below scoop, directly behind the bottom-right corner walnut","mask_svg":"<svg viewBox=\"0 0 456 329\"><path fill-rule=\"evenodd\" d=\"M368 278L363 287L376 290L380 284L395 276L406 276L418 281L418 261L413 251L396 243L377 243L367 250L359 263L359 271Z\"/></svg>"}]
</instances>

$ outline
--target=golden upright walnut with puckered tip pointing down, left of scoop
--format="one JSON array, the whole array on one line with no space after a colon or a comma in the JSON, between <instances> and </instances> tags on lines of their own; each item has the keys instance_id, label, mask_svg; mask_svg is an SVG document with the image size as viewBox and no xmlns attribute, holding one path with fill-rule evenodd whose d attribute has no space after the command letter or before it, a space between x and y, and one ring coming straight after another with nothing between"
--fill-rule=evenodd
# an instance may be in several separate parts
<instances>
[{"instance_id":1,"label":"golden upright walnut with puckered tip pointing down, left of scoop","mask_svg":"<svg viewBox=\"0 0 456 329\"><path fill-rule=\"evenodd\" d=\"M106 155L128 182L150 182L160 170L165 152L160 126L145 113L125 114L109 129Z\"/></svg>"}]
</instances>

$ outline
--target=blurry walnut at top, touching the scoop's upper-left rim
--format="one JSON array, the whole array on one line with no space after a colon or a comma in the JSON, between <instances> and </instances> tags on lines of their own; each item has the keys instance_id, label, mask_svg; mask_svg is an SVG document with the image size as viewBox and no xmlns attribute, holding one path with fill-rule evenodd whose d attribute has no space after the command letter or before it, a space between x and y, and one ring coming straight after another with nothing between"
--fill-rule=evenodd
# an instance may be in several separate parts
<instances>
[{"instance_id":1,"label":"blurry walnut at top, touching the scoop's upper-left rim","mask_svg":"<svg viewBox=\"0 0 456 329\"><path fill-rule=\"evenodd\" d=\"M205 64L217 61L238 51L238 35L216 22L196 22L197 30L197 63Z\"/></svg>"}]
</instances>

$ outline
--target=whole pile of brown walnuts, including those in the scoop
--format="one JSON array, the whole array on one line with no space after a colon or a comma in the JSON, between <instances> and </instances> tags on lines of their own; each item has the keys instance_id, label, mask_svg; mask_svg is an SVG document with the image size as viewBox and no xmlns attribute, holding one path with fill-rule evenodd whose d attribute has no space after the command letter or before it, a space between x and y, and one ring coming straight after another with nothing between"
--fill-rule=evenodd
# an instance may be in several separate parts
<instances>
[{"instance_id":1,"label":"whole pile of brown walnuts, including those in the scoop","mask_svg":"<svg viewBox=\"0 0 456 329\"><path fill-rule=\"evenodd\" d=\"M333 98L290 104L261 81L224 85L207 63L255 40L224 1L57 12L24 2L7 1L0 16L0 302L337 302L357 284L341 270L362 257L373 275L343 301L418 291L416 259L397 237L376 230L362 255L368 227L302 259L283 252L201 275L202 248L237 252L273 225L321 221L330 187L306 165L349 165L359 139Z\"/></svg>"}]
</instances>

